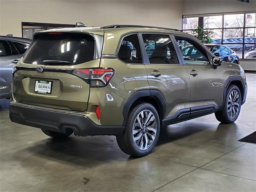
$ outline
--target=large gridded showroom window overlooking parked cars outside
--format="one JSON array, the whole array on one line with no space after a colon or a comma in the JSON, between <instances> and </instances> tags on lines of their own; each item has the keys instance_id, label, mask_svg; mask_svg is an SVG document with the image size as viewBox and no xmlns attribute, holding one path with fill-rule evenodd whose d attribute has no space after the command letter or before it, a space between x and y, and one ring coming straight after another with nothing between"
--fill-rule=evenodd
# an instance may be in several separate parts
<instances>
[{"instance_id":1,"label":"large gridded showroom window overlooking parked cars outside","mask_svg":"<svg viewBox=\"0 0 256 192\"><path fill-rule=\"evenodd\" d=\"M256 58L256 17L255 13L230 13L198 17L198 26L204 30L212 30L212 43L224 44L235 51L240 59ZM191 18L191 19L190 19ZM195 17L183 18L183 31L192 33L191 28L184 28L185 20ZM196 22L193 22L196 23ZM191 24L190 24L191 26ZM197 26L194 26L196 28Z\"/></svg>"}]
</instances>

